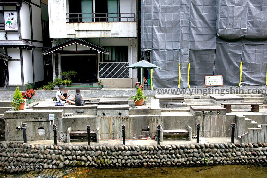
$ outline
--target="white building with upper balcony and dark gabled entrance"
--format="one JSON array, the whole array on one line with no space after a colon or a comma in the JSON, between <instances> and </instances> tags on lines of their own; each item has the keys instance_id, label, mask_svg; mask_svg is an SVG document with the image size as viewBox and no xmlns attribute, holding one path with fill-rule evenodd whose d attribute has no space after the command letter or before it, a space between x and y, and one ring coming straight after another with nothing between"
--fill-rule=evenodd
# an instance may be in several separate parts
<instances>
[{"instance_id":1,"label":"white building with upper balcony and dark gabled entrance","mask_svg":"<svg viewBox=\"0 0 267 178\"><path fill-rule=\"evenodd\" d=\"M75 70L74 83L103 80L110 87L135 86L137 70L136 0L49 0L53 77Z\"/></svg>"}]
</instances>

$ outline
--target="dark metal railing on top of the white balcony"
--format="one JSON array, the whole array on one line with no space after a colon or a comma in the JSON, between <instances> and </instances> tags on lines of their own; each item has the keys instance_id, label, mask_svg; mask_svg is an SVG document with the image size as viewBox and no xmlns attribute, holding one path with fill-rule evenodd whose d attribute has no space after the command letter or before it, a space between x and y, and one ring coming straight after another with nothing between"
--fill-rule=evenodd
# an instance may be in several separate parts
<instances>
[{"instance_id":1,"label":"dark metal railing on top of the white balcony","mask_svg":"<svg viewBox=\"0 0 267 178\"><path fill-rule=\"evenodd\" d=\"M135 13L67 13L68 22L136 22Z\"/></svg>"}]
</instances>

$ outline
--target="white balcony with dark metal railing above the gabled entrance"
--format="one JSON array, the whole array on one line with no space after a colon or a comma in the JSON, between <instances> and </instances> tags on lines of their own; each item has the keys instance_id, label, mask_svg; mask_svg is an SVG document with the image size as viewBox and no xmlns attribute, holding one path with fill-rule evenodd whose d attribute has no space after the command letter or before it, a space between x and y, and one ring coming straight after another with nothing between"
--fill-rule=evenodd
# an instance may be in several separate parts
<instances>
[{"instance_id":1,"label":"white balcony with dark metal railing above the gabled entrance","mask_svg":"<svg viewBox=\"0 0 267 178\"><path fill-rule=\"evenodd\" d=\"M67 38L136 37L135 13L67 13Z\"/></svg>"}]
</instances>

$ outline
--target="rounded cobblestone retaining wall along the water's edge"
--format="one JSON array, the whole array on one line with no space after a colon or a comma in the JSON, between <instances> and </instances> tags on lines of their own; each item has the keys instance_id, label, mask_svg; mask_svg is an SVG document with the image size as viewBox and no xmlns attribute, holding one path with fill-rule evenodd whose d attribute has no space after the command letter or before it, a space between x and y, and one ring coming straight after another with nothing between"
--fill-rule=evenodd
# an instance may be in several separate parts
<instances>
[{"instance_id":1,"label":"rounded cobblestone retaining wall along the water's edge","mask_svg":"<svg viewBox=\"0 0 267 178\"><path fill-rule=\"evenodd\" d=\"M42 171L25 166L133 167L267 163L267 143L59 146L0 143L0 171ZM10 167L10 166L24 167Z\"/></svg>"}]
</instances>

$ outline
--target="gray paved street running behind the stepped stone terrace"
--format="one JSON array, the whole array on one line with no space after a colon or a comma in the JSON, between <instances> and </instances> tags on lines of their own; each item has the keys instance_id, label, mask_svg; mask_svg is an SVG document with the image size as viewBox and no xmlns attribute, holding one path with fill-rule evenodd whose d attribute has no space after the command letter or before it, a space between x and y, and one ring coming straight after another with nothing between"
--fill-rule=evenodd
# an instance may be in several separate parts
<instances>
[{"instance_id":1,"label":"gray paved street running behind the stepped stone terrace","mask_svg":"<svg viewBox=\"0 0 267 178\"><path fill-rule=\"evenodd\" d=\"M144 90L144 95L154 96L154 95L163 95L163 94L218 94L220 93L230 94L230 93L248 93L254 89L255 91L261 90L260 94L266 94L266 86L225 86L225 87L191 87L190 89L156 89L156 90ZM263 91L262 91L263 90ZM129 97L135 95L135 88L109 88L101 90L81 90L85 98L94 98L94 97ZM53 91L44 91L36 90L35 99L47 99L50 97L56 96L57 90ZM12 100L13 90L4 90L0 88L0 101L9 101ZM68 94L75 94L74 90L69 90ZM251 94L251 93L249 93ZM256 93L254 93L256 94Z\"/></svg>"}]
</instances>

